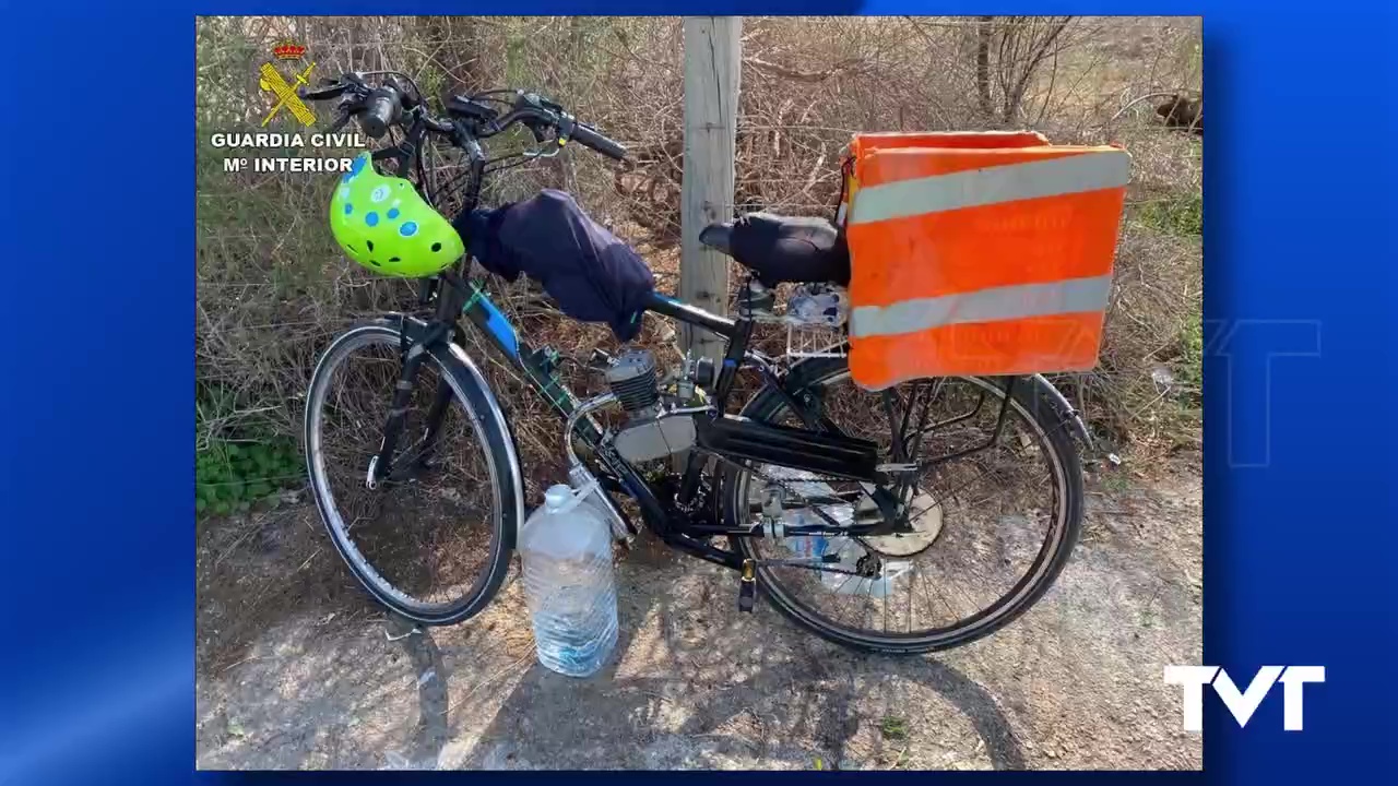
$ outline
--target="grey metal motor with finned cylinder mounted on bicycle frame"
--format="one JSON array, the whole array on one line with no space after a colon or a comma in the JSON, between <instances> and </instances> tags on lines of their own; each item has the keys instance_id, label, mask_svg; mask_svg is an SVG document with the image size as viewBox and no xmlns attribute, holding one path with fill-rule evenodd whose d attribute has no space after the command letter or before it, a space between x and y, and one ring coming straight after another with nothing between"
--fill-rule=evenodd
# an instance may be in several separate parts
<instances>
[{"instance_id":1,"label":"grey metal motor with finned cylinder mounted on bicycle frame","mask_svg":"<svg viewBox=\"0 0 1398 786\"><path fill-rule=\"evenodd\" d=\"M667 411L650 352L632 350L618 355L607 368L607 385L626 411L626 427L612 442L624 459L653 462L693 446L693 415Z\"/></svg>"}]
</instances>

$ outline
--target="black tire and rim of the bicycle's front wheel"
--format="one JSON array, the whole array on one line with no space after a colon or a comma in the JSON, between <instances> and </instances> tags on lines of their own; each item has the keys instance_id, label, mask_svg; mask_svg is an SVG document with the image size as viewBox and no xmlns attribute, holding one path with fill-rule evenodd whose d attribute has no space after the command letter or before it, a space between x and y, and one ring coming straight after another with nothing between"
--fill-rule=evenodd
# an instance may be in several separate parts
<instances>
[{"instance_id":1,"label":"black tire and rim of the bicycle's front wheel","mask_svg":"<svg viewBox=\"0 0 1398 786\"><path fill-rule=\"evenodd\" d=\"M446 603L421 603L384 579L347 537L344 520L336 508L324 469L320 427L323 404L330 392L336 368L359 347L383 340L398 341L401 337L398 324L397 317L382 317L359 324L338 336L322 354L306 394L306 469L322 523L326 526L336 551L340 552L365 590L375 600L408 620L425 625L452 625L478 614L499 592L509 572L510 555L514 551L524 512L524 483L520 476L519 452L514 446L513 432L503 408L470 357L461 347L442 343L428 350L426 361L438 366L442 379L452 389L454 401L463 407L477 436L485 446L484 453L489 464L491 483L498 503L495 522L491 527L491 547L485 571L467 593ZM421 322L411 319L407 324L410 338L425 327Z\"/></svg>"}]
</instances>

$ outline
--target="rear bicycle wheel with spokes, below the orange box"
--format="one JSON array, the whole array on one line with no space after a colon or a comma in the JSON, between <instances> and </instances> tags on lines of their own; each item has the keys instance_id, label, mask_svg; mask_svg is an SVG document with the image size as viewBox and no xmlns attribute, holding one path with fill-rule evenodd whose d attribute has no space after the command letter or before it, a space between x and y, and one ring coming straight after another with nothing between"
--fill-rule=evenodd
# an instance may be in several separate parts
<instances>
[{"instance_id":1,"label":"rear bicycle wheel with spokes, below the orange box","mask_svg":"<svg viewBox=\"0 0 1398 786\"><path fill-rule=\"evenodd\" d=\"M881 460L893 460L881 396L853 385L843 358L807 361L793 375L798 375L795 387L819 403L823 417L850 436L879 443ZM928 399L931 417L924 422L932 425L924 429L921 457L953 456L990 442L987 449L930 462L927 470L918 470L906 494L913 533L832 537L819 547L800 537L734 538L744 557L758 561L759 589L784 615L858 650L934 652L1001 629L1048 590L1082 526L1078 452L1036 380L1019 380L1002 422L1002 380L949 378L909 385L934 396ZM902 387L899 394L911 403L913 394ZM770 387L759 392L742 414L801 425L786 397ZM780 467L730 467L723 480L730 522L752 524L761 506L758 495L770 483L751 470L781 476ZM811 491L812 483L821 488ZM787 485L807 487L797 491L801 495L854 499L864 494L860 484L832 478L795 478ZM821 506L835 519L854 515L853 503L846 510L839 508ZM807 559L819 548L828 550L822 554L837 552L839 562L781 564ZM861 571L867 575L858 575Z\"/></svg>"}]
</instances>

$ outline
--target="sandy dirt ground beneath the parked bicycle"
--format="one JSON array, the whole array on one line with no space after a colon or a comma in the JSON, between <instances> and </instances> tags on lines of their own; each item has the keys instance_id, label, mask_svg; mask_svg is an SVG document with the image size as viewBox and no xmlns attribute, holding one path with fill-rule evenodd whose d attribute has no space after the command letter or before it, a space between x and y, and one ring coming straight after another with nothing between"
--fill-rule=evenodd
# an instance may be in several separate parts
<instances>
[{"instance_id":1,"label":"sandy dirt ground beneath the parked bicycle","mask_svg":"<svg viewBox=\"0 0 1398 786\"><path fill-rule=\"evenodd\" d=\"M412 632L356 589L315 508L204 524L197 762L211 769L1198 769L1170 663L1202 649L1201 478L1089 485L1082 541L1009 628L863 656L730 572L642 540L621 641L589 680L534 660L516 572L463 625Z\"/></svg>"}]
</instances>

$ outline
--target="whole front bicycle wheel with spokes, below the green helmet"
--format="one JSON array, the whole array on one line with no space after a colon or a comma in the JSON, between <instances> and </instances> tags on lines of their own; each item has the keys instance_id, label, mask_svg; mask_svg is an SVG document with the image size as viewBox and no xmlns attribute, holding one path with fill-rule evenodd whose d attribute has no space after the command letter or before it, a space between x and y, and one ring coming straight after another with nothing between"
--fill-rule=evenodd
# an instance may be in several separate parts
<instances>
[{"instance_id":1,"label":"whole front bicycle wheel with spokes, below the green helmet","mask_svg":"<svg viewBox=\"0 0 1398 786\"><path fill-rule=\"evenodd\" d=\"M442 344L412 380L390 473L372 480L401 368L397 320L355 327L326 350L306 396L312 491L336 550L375 599L418 622L460 622L509 569L523 515L519 460L489 387L460 348Z\"/></svg>"}]
</instances>

